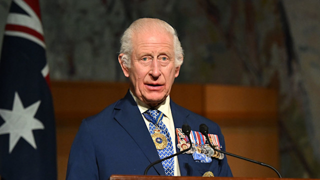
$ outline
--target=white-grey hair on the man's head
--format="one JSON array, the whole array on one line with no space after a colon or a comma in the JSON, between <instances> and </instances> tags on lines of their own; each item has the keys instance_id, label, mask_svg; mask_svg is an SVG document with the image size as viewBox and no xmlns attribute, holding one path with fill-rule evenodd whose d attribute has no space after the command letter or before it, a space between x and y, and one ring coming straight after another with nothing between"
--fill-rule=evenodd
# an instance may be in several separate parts
<instances>
[{"instance_id":1,"label":"white-grey hair on the man's head","mask_svg":"<svg viewBox=\"0 0 320 180\"><path fill-rule=\"evenodd\" d=\"M139 18L134 22L132 22L131 25L123 32L120 40L120 43L121 43L120 53L124 54L121 57L121 61L123 61L124 65L128 68L131 67L130 57L133 50L132 35L134 34L134 32L146 31L146 29L148 29L148 28L145 28L146 25L151 27L160 27L159 29L162 29L172 34L174 57L175 57L174 64L175 64L175 67L181 65L183 62L183 49L181 47L181 43L177 36L176 30L167 22L157 18Z\"/></svg>"}]
</instances>

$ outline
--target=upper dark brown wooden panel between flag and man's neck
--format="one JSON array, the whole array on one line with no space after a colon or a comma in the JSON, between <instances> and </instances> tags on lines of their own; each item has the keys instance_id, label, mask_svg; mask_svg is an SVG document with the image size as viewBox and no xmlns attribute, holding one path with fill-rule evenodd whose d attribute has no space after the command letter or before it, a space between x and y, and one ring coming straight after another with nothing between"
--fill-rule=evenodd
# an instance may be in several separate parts
<instances>
[{"instance_id":1,"label":"upper dark brown wooden panel between flag and man's neck","mask_svg":"<svg viewBox=\"0 0 320 180\"><path fill-rule=\"evenodd\" d=\"M52 81L57 125L74 125L122 98L129 85L112 82Z\"/></svg>"}]
</instances>

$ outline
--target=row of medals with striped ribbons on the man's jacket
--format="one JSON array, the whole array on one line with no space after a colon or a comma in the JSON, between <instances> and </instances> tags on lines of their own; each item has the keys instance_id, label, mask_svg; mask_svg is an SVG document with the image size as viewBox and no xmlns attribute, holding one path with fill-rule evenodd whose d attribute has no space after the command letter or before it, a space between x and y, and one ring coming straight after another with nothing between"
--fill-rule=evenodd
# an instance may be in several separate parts
<instances>
[{"instance_id":1,"label":"row of medals with striped ribbons on the man's jacket","mask_svg":"<svg viewBox=\"0 0 320 180\"><path fill-rule=\"evenodd\" d=\"M203 154L206 157L213 157L217 159L223 159L224 154L220 153L210 147L208 143L211 143L215 148L220 149L222 148L219 143L218 136L216 134L208 134L209 141L207 142L205 136L201 134L201 132L197 131L190 131L190 139L182 132L181 128L175 129L178 144L177 147L180 150L184 150L190 147L190 142L192 143L192 147L186 153L192 154L193 157L195 154ZM200 157L201 158L201 157Z\"/></svg>"}]
</instances>

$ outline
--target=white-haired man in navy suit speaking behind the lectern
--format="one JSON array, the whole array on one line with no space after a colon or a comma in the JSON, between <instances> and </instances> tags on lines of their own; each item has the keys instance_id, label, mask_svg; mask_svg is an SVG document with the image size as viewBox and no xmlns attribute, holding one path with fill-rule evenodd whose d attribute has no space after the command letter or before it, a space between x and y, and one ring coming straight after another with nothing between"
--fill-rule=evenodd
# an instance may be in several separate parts
<instances>
[{"instance_id":1,"label":"white-haired man in navy suit speaking behind the lectern","mask_svg":"<svg viewBox=\"0 0 320 180\"><path fill-rule=\"evenodd\" d=\"M179 151L175 128L185 123L192 130L207 124L209 133L217 135L221 150L225 150L215 122L169 97L183 61L173 27L160 19L137 19L121 37L118 61L129 78L129 90L124 98L82 121L70 150L66 179L143 174L151 162ZM212 172L214 176L232 176L226 157L201 161L194 154L172 157L152 166L147 174L202 176Z\"/></svg>"}]
</instances>

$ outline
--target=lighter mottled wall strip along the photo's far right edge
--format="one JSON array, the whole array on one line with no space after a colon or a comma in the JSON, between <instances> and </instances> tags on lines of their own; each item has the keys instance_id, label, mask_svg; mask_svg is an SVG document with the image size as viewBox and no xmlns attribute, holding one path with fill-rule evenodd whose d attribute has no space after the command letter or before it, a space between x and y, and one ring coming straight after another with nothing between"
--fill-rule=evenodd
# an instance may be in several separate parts
<instances>
[{"instance_id":1,"label":"lighter mottled wall strip along the photo's far right edge","mask_svg":"<svg viewBox=\"0 0 320 180\"><path fill-rule=\"evenodd\" d=\"M292 37L292 83L288 94L295 115L285 124L302 152L309 174L320 175L320 1L283 1ZM302 132L302 133L301 133ZM298 155L298 154L297 154ZM287 159L287 158L283 158ZM291 159L292 160L292 159ZM288 161L291 161L288 160ZM287 162L288 162L287 161ZM306 175L306 174L305 174Z\"/></svg>"}]
</instances>

